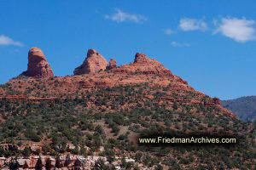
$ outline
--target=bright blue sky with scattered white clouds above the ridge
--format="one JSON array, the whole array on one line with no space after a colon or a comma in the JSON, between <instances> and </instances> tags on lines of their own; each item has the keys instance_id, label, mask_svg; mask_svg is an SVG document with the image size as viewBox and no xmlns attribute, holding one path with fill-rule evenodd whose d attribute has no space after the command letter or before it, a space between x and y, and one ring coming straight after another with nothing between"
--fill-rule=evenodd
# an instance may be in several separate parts
<instances>
[{"instance_id":1,"label":"bright blue sky with scattered white clouds above the ridge","mask_svg":"<svg viewBox=\"0 0 256 170\"><path fill-rule=\"evenodd\" d=\"M95 48L118 65L137 52L220 99L256 95L256 2L0 1L0 83L26 71L29 48L55 76L72 75Z\"/></svg>"}]
</instances>

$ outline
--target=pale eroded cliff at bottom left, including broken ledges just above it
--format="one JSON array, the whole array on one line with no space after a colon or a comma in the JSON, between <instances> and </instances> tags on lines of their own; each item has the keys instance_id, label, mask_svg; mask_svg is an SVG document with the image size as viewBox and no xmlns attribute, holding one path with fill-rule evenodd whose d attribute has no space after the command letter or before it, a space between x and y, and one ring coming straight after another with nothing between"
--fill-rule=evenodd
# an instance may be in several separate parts
<instances>
[{"instance_id":1,"label":"pale eroded cliff at bottom left, including broken ledges just above it","mask_svg":"<svg viewBox=\"0 0 256 170\"><path fill-rule=\"evenodd\" d=\"M29 148L32 152L42 149L42 144L36 142L28 142L26 147ZM0 144L2 150L5 151L14 151L14 150L24 150L25 146L18 146L15 144ZM76 147L73 144L67 144L68 150L73 150ZM81 150L81 147L79 147ZM85 147L84 150L88 152L89 147ZM104 147L100 147L99 151L104 151ZM120 150L114 149L117 153L120 153ZM95 152L98 155L97 152ZM102 161L106 165L112 165L119 169L121 164L121 157L115 156L115 161L109 162L106 156L78 156L73 155L69 152L62 153L58 156L47 156L43 154L33 155L32 156L9 156L9 157L0 157L0 169L63 169L63 170L89 170L94 168L100 168L99 162ZM135 162L125 154L126 162ZM138 163L139 167L144 169L143 164ZM146 168L147 169L147 168Z\"/></svg>"}]
</instances>

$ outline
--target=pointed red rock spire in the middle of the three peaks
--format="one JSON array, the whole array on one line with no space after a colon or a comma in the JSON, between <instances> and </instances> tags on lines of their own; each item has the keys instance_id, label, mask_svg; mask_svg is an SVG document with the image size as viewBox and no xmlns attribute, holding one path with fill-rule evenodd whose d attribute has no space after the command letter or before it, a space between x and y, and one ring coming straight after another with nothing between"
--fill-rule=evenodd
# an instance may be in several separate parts
<instances>
[{"instance_id":1,"label":"pointed red rock spire in the middle of the three peaks","mask_svg":"<svg viewBox=\"0 0 256 170\"><path fill-rule=\"evenodd\" d=\"M77 67L74 71L74 75L82 75L88 73L96 73L97 71L104 71L108 65L108 61L102 57L101 54L96 52L95 49L89 49L87 57L84 59L82 65Z\"/></svg>"}]
</instances>

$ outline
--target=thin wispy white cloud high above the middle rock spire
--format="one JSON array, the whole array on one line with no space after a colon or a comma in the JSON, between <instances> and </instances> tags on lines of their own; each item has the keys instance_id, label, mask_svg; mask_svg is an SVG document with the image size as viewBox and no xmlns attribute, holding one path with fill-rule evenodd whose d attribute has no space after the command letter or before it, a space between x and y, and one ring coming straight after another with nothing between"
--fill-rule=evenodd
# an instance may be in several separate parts
<instances>
[{"instance_id":1,"label":"thin wispy white cloud high above the middle rock spire","mask_svg":"<svg viewBox=\"0 0 256 170\"><path fill-rule=\"evenodd\" d=\"M116 22L132 21L132 22L136 22L136 23L148 20L142 14L125 13L119 8L117 8L115 10L116 10L115 14L112 14L112 15L107 14L107 15L105 15L105 18L108 20L116 21Z\"/></svg>"}]
</instances>

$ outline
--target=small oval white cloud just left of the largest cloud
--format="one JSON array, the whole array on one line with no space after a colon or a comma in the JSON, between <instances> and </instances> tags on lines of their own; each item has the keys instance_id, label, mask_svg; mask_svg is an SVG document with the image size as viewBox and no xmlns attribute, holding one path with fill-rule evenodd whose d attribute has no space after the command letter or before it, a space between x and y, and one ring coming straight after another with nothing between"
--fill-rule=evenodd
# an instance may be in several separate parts
<instances>
[{"instance_id":1,"label":"small oval white cloud just left of the largest cloud","mask_svg":"<svg viewBox=\"0 0 256 170\"><path fill-rule=\"evenodd\" d=\"M179 21L179 27L183 31L205 31L207 30L207 23L203 20L183 18Z\"/></svg>"}]
</instances>

